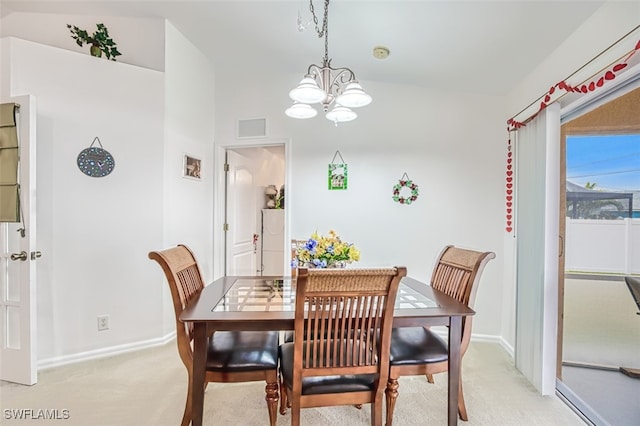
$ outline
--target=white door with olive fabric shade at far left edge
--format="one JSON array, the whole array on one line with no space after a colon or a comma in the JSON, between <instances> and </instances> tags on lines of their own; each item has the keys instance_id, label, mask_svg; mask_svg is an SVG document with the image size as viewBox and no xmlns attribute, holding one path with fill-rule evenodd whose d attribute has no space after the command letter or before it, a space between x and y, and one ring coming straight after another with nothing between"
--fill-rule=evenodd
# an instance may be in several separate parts
<instances>
[{"instance_id":1,"label":"white door with olive fabric shade at far left edge","mask_svg":"<svg viewBox=\"0 0 640 426\"><path fill-rule=\"evenodd\" d=\"M32 96L2 99L20 105L16 117L21 223L0 223L0 380L37 382L36 105Z\"/></svg>"}]
</instances>

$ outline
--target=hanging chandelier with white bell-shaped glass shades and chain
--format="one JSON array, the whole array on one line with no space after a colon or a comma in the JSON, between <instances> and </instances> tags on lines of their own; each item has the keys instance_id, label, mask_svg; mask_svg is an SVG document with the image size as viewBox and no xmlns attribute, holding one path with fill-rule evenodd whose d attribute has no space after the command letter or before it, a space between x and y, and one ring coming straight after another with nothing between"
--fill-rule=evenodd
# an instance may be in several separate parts
<instances>
[{"instance_id":1,"label":"hanging chandelier with white bell-shaped glass shades and chain","mask_svg":"<svg viewBox=\"0 0 640 426\"><path fill-rule=\"evenodd\" d=\"M309 0L309 5L318 37L324 36L324 58L322 66L309 65L307 74L300 84L289 92L293 105L285 111L285 114L292 118L312 118L318 114L318 111L311 105L321 103L327 119L337 126L338 123L355 120L358 115L351 108L369 105L371 96L365 93L356 80L356 75L349 68L331 67L329 0L324 1L322 29L318 29L318 17L313 7L313 0ZM333 108L329 110L332 104Z\"/></svg>"}]
</instances>

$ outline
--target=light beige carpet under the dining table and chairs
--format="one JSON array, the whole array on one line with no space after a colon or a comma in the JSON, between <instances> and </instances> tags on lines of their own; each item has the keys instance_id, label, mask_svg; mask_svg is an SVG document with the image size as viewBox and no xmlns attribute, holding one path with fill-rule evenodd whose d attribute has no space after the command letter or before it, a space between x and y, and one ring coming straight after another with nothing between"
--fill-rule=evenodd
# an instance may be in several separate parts
<instances>
[{"instance_id":1,"label":"light beige carpet under the dining table and chairs","mask_svg":"<svg viewBox=\"0 0 640 426\"><path fill-rule=\"evenodd\" d=\"M423 376L400 378L394 425L447 424L447 375L430 384ZM556 396L541 396L497 344L472 342L463 359L468 422L461 425L584 425ZM3 425L178 425L187 374L175 342L162 347L41 371L34 386L0 382ZM268 425L264 382L211 383L205 394L207 425ZM17 409L63 410L68 419L17 420ZM10 410L10 411L7 411ZM369 406L307 408L303 425L368 425ZM278 415L278 425L290 415Z\"/></svg>"}]
</instances>

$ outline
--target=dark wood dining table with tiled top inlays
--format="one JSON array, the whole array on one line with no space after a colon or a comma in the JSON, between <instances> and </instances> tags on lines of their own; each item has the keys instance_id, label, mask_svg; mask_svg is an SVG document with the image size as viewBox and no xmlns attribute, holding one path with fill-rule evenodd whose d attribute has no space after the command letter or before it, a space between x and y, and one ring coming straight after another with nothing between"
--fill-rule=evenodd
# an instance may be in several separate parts
<instances>
[{"instance_id":1,"label":"dark wood dining table with tiled top inlays","mask_svg":"<svg viewBox=\"0 0 640 426\"><path fill-rule=\"evenodd\" d=\"M223 276L189 302L180 320L193 325L192 425L201 426L207 342L218 330L293 330L295 276ZM394 327L447 326L449 425L458 422L463 317L475 312L429 284L403 277L393 313Z\"/></svg>"}]
</instances>

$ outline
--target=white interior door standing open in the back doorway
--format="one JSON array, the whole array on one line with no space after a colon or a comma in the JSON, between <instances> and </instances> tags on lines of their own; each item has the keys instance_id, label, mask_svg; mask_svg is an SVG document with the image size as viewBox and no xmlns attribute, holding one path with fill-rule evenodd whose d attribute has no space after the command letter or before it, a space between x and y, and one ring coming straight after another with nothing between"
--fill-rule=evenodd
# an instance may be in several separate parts
<instances>
[{"instance_id":1,"label":"white interior door standing open in the back doorway","mask_svg":"<svg viewBox=\"0 0 640 426\"><path fill-rule=\"evenodd\" d=\"M257 201L252 160L227 151L226 275L257 274Z\"/></svg>"}]
</instances>

